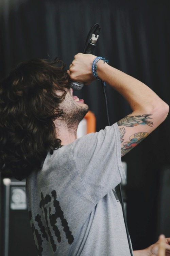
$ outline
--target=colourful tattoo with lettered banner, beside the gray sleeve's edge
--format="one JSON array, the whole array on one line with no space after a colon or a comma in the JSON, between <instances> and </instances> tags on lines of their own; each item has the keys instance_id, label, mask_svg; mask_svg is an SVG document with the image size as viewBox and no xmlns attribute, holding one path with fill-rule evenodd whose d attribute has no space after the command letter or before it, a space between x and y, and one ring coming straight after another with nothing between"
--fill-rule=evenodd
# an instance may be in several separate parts
<instances>
[{"instance_id":1,"label":"colourful tattoo with lettered banner, beside the gray sleeve's edge","mask_svg":"<svg viewBox=\"0 0 170 256\"><path fill-rule=\"evenodd\" d=\"M119 129L120 134L122 134L122 131L120 131L121 129ZM125 133L125 130L124 130L124 133ZM134 133L133 135L131 135L129 137L129 141L126 141L123 143L123 147L121 147L121 155L125 155L126 153L131 151L132 148L134 148L136 145L138 145L148 135L149 135L148 132L137 132L137 133ZM121 137L121 142L123 142L122 138L123 138L123 136Z\"/></svg>"}]
</instances>

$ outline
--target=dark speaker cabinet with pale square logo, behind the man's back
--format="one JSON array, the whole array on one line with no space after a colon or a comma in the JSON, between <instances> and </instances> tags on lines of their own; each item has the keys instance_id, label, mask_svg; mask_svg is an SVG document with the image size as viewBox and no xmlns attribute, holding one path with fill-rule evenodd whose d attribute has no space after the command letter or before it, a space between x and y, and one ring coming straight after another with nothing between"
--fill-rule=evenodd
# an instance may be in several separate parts
<instances>
[{"instance_id":1,"label":"dark speaker cabinet with pale square logo, behind the man's back","mask_svg":"<svg viewBox=\"0 0 170 256\"><path fill-rule=\"evenodd\" d=\"M1 181L1 255L37 256L26 204L26 182Z\"/></svg>"}]
</instances>

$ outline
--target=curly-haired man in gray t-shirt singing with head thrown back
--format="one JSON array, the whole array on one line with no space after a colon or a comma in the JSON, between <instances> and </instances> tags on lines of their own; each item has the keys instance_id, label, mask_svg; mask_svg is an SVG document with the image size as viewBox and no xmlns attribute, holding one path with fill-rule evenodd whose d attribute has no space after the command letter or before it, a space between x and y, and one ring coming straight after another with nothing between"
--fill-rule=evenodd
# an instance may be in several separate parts
<instances>
[{"instance_id":1,"label":"curly-haired man in gray t-shirt singing with head thrown back","mask_svg":"<svg viewBox=\"0 0 170 256\"><path fill-rule=\"evenodd\" d=\"M77 54L69 70L64 68L60 60L34 59L20 63L1 82L1 169L18 180L27 178L39 256L130 256L114 191L125 179L121 156L165 120L169 106L104 58ZM70 79L90 84L96 78L117 90L133 112L77 139L88 106L73 96ZM165 242L170 255L170 238ZM157 255L158 244L133 253Z\"/></svg>"}]
</instances>

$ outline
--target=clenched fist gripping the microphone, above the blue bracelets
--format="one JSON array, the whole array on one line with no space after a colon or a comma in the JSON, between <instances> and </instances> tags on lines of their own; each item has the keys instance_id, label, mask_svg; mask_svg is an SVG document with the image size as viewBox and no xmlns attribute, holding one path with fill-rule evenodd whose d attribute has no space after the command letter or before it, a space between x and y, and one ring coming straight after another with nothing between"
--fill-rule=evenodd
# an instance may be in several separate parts
<instances>
[{"instance_id":1,"label":"clenched fist gripping the microphone, above the blue bracelets","mask_svg":"<svg viewBox=\"0 0 170 256\"><path fill-rule=\"evenodd\" d=\"M91 66L95 58L96 56L92 54L78 53L75 55L69 70L67 70L70 79L85 84L94 81L95 77L92 75Z\"/></svg>"}]
</instances>

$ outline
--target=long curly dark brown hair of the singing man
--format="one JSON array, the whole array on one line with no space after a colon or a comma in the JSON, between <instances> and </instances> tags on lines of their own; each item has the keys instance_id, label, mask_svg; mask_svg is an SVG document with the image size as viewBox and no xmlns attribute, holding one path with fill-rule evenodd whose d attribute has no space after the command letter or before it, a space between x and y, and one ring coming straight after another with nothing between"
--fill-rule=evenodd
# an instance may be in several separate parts
<instances>
[{"instance_id":1,"label":"long curly dark brown hair of the singing man","mask_svg":"<svg viewBox=\"0 0 170 256\"><path fill-rule=\"evenodd\" d=\"M21 62L0 82L0 170L16 179L39 169L48 151L61 147L54 120L63 116L69 76L63 61ZM59 95L56 93L61 91Z\"/></svg>"}]
</instances>

